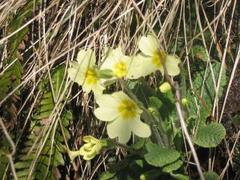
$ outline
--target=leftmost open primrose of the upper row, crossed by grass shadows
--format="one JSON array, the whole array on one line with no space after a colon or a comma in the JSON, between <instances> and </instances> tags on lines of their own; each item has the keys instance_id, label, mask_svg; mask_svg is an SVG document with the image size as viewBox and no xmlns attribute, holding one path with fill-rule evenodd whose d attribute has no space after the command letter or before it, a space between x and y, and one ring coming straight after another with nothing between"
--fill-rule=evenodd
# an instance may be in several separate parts
<instances>
[{"instance_id":1,"label":"leftmost open primrose of the upper row, crossed by grass shadows","mask_svg":"<svg viewBox=\"0 0 240 180\"><path fill-rule=\"evenodd\" d=\"M77 55L77 62L71 63L68 69L70 79L80 86L84 92L91 90L96 94L102 94L104 87L101 85L100 77L95 68L96 57L91 49L80 50Z\"/></svg>"}]
</instances>

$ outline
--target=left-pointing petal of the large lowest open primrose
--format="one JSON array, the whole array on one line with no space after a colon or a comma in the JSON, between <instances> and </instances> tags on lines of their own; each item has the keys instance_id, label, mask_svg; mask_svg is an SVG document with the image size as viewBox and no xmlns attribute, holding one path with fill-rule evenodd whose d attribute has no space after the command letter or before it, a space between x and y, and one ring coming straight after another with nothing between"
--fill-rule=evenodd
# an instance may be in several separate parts
<instances>
[{"instance_id":1,"label":"left-pointing petal of the large lowest open primrose","mask_svg":"<svg viewBox=\"0 0 240 180\"><path fill-rule=\"evenodd\" d=\"M117 109L99 107L94 111L95 116L101 121L113 121L119 116Z\"/></svg>"}]
</instances>

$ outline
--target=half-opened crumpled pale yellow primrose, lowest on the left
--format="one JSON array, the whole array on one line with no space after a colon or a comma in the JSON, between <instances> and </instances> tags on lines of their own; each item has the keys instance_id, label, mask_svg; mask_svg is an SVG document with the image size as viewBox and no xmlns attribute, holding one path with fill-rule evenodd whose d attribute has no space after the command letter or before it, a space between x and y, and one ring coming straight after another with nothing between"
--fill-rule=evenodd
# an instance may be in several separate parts
<instances>
[{"instance_id":1,"label":"half-opened crumpled pale yellow primrose, lowest on the left","mask_svg":"<svg viewBox=\"0 0 240 180\"><path fill-rule=\"evenodd\" d=\"M84 160L91 160L99 154L105 146L107 146L105 140L99 140L93 136L84 136L83 141L85 144L78 151L68 152L71 161L79 155L83 156Z\"/></svg>"}]
</instances>

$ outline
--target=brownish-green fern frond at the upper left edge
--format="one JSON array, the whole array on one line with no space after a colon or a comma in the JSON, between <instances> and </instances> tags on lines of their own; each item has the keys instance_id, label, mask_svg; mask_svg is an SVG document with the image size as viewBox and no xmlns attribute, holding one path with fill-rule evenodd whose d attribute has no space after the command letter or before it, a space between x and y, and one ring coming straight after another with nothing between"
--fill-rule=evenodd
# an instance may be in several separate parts
<instances>
[{"instance_id":1,"label":"brownish-green fern frond at the upper left edge","mask_svg":"<svg viewBox=\"0 0 240 180\"><path fill-rule=\"evenodd\" d=\"M10 34L18 30L24 24L26 18L32 14L34 5L39 3L40 1L34 2L32 0L28 0L23 8L21 8L9 21L8 33ZM6 67L7 65L11 64L11 66L9 66L7 71L0 76L0 101L6 97L9 91L16 88L21 82L23 67L21 65L21 60L19 59L22 57L18 48L21 43L24 43L24 38L28 32L29 28L25 27L21 31L11 36L8 41L8 57L3 60L3 65ZM19 91L17 91L15 94L19 95Z\"/></svg>"}]
</instances>

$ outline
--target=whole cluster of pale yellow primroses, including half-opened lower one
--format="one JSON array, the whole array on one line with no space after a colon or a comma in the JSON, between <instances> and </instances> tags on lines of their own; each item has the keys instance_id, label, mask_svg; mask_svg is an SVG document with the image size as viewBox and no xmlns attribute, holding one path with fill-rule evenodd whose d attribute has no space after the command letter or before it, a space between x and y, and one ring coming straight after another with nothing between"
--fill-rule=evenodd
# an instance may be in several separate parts
<instances>
[{"instance_id":1,"label":"whole cluster of pale yellow primroses, including half-opened lower one","mask_svg":"<svg viewBox=\"0 0 240 180\"><path fill-rule=\"evenodd\" d=\"M121 47L107 48L100 67L96 66L96 56L91 49L80 50L77 61L72 62L68 69L68 76L72 81L82 86L84 92L94 93L99 106L94 114L99 120L108 123L108 136L111 139L117 138L123 144L129 141L132 133L142 138L149 137L151 129L141 121L142 110L126 93L103 93L107 82L138 79L157 70L170 76L180 73L179 58L162 50L155 36L142 36L138 47L141 52L135 56L125 55ZM82 155L85 160L90 160L106 146L103 140L91 136L85 136L83 140L86 144L79 151L70 151L70 157Z\"/></svg>"}]
</instances>

